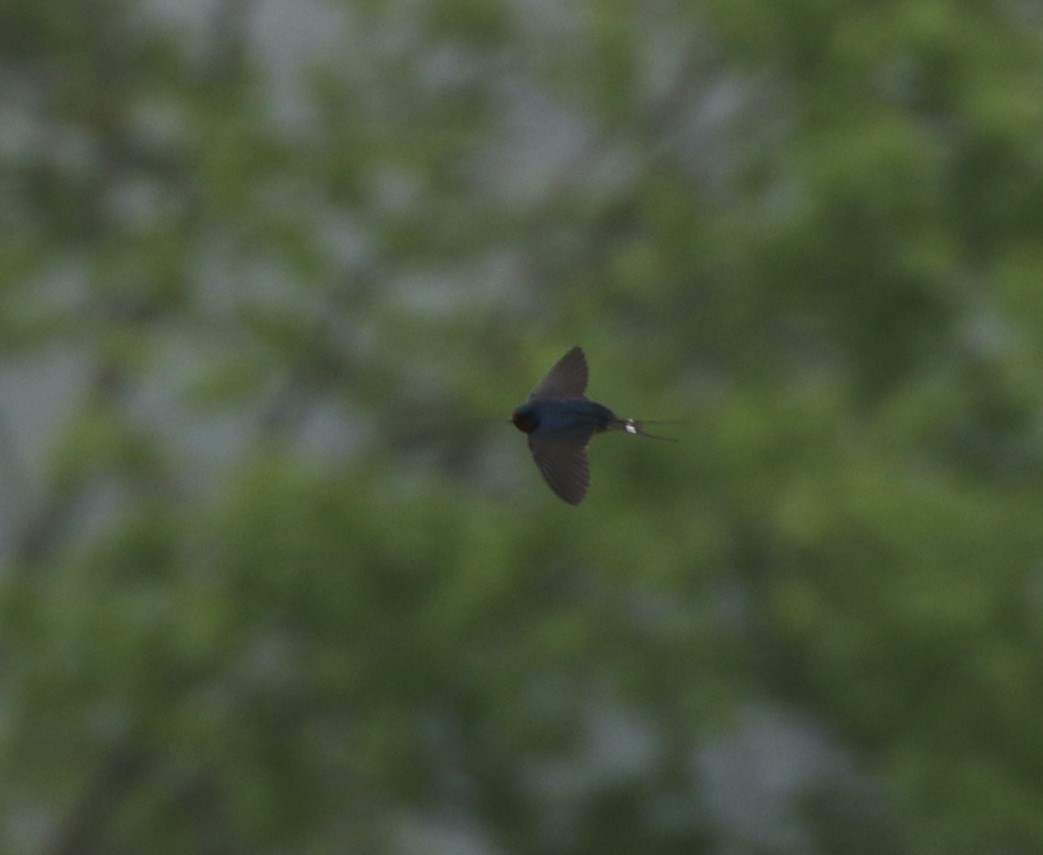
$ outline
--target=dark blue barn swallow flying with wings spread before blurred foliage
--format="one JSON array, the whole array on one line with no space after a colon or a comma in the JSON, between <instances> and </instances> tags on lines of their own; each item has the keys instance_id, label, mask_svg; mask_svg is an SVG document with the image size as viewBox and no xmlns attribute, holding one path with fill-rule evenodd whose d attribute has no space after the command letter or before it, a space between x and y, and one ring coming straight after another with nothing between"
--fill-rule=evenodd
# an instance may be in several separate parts
<instances>
[{"instance_id":1,"label":"dark blue barn swallow flying with wings spread before blurred foliage","mask_svg":"<svg viewBox=\"0 0 1043 855\"><path fill-rule=\"evenodd\" d=\"M574 347L550 370L511 414L514 426L529 435L529 449L548 486L569 505L579 505L590 484L586 448L595 434L622 431L652 437L632 418L618 418L588 400L586 358ZM657 437L661 439L661 437Z\"/></svg>"}]
</instances>

